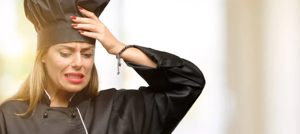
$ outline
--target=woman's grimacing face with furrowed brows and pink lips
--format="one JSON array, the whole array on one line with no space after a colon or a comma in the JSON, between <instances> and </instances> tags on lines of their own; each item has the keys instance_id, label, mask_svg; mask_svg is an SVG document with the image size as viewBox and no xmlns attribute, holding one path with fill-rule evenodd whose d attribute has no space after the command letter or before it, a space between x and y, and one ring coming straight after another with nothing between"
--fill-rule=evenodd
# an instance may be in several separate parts
<instances>
[{"instance_id":1,"label":"woman's grimacing face with furrowed brows and pink lips","mask_svg":"<svg viewBox=\"0 0 300 134\"><path fill-rule=\"evenodd\" d=\"M77 92L83 89L94 63L94 45L86 42L65 42L49 47L42 59L48 87Z\"/></svg>"}]
</instances>

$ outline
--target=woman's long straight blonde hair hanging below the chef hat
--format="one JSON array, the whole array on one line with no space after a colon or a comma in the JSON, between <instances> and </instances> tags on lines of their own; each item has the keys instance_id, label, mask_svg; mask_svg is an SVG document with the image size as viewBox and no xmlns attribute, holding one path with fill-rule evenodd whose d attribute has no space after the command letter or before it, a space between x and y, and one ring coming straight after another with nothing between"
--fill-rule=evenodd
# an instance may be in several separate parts
<instances>
[{"instance_id":1,"label":"woman's long straight blonde hair hanging below the chef hat","mask_svg":"<svg viewBox=\"0 0 300 134\"><path fill-rule=\"evenodd\" d=\"M30 112L32 112L31 115L33 115L37 103L43 96L43 88L46 86L46 71L42 63L42 58L47 53L48 49L49 47L46 47L36 51L31 73L26 77L17 93L5 100L21 100L29 102L29 107L25 113L14 113L18 116L24 116ZM85 88L88 89L86 93L89 96L94 96L98 93L98 74L95 64L92 66L90 79Z\"/></svg>"}]
</instances>

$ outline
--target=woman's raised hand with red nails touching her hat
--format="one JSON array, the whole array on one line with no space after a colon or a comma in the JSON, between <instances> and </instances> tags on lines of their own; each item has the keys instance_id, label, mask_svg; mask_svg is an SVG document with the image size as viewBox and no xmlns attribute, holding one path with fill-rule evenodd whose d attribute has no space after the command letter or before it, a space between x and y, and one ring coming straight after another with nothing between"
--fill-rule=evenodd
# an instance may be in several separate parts
<instances>
[{"instance_id":1,"label":"woman's raised hand with red nails touching her hat","mask_svg":"<svg viewBox=\"0 0 300 134\"><path fill-rule=\"evenodd\" d=\"M99 20L99 18L88 10L79 7L79 10L87 17L70 16L76 23L72 26L76 29L84 29L89 31L78 30L81 35L92 37L101 42L102 46L109 54L116 55L125 44L118 41L107 27Z\"/></svg>"}]
</instances>

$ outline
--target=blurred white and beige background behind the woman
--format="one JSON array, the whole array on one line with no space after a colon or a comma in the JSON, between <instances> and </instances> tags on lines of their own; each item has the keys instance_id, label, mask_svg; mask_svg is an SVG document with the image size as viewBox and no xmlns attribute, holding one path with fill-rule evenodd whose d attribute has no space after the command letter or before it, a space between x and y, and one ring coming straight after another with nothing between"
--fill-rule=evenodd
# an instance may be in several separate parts
<instances>
[{"instance_id":1,"label":"blurred white and beige background behind the woman","mask_svg":"<svg viewBox=\"0 0 300 134\"><path fill-rule=\"evenodd\" d=\"M31 70L36 32L23 0L0 3L2 101ZM203 72L204 90L173 133L300 133L300 0L111 0L99 18L121 42ZM102 47L95 64L100 89L147 86L130 67L116 75Z\"/></svg>"}]
</instances>

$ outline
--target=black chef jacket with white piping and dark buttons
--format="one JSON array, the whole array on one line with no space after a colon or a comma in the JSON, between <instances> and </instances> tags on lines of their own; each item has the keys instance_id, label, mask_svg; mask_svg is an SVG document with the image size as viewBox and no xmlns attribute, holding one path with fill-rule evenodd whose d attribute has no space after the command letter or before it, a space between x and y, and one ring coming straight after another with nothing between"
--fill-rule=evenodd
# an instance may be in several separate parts
<instances>
[{"instance_id":1,"label":"black chef jacket with white piping and dark buttons","mask_svg":"<svg viewBox=\"0 0 300 134\"><path fill-rule=\"evenodd\" d=\"M171 133L197 97L205 80L196 65L176 55L146 48L157 67L125 61L147 83L136 89L115 88L97 96L75 93L68 107L49 107L44 95L32 116L19 117L28 102L12 100L0 106L0 134L6 133ZM44 93L46 94L46 93Z\"/></svg>"}]
</instances>

